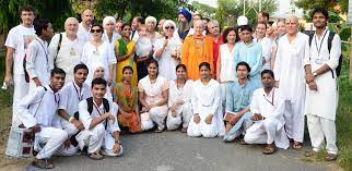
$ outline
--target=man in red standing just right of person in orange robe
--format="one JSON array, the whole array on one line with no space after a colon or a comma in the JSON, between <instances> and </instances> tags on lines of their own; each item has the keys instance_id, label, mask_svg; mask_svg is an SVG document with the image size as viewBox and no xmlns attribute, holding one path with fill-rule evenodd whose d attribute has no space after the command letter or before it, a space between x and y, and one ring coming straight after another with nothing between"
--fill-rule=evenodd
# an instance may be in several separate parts
<instances>
[{"instance_id":1,"label":"man in red standing just right of person in orange robe","mask_svg":"<svg viewBox=\"0 0 352 171\"><path fill-rule=\"evenodd\" d=\"M210 21L208 23L208 30L210 33L210 36L213 37L213 63L214 63L214 70L216 71L219 48L220 48L220 45L224 44L222 36L220 34L219 22L218 21Z\"/></svg>"}]
</instances>

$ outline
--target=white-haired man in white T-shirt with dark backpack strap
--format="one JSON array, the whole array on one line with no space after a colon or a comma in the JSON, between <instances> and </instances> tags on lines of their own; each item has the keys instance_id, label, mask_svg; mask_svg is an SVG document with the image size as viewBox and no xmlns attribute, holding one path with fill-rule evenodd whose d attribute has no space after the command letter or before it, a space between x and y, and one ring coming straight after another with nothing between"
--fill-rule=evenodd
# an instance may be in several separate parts
<instances>
[{"instance_id":1,"label":"white-haired man in white T-shirt with dark backpack strap","mask_svg":"<svg viewBox=\"0 0 352 171\"><path fill-rule=\"evenodd\" d=\"M84 45L82 37L78 37L79 21L68 17L64 22L64 32L56 34L49 45L49 57L54 65L66 73L66 83L73 80L73 68L81 62Z\"/></svg>"}]
</instances>

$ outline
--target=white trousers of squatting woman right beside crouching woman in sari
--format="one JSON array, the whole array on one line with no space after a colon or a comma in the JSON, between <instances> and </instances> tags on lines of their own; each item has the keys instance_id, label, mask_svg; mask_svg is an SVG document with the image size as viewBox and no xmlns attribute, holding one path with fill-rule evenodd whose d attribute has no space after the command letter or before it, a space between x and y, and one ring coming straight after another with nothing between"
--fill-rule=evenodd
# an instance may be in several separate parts
<instances>
[{"instance_id":1,"label":"white trousers of squatting woman right beside crouching woman in sari","mask_svg":"<svg viewBox=\"0 0 352 171\"><path fill-rule=\"evenodd\" d=\"M159 130L164 130L167 106L152 108L149 112L141 113L141 129L143 131L154 127L154 122Z\"/></svg>"}]
</instances>

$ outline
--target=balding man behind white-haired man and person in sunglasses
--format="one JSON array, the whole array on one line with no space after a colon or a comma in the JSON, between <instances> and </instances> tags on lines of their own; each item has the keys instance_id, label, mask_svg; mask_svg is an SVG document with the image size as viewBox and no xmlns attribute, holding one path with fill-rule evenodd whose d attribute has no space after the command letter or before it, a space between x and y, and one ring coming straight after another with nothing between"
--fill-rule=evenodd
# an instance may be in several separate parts
<instances>
[{"instance_id":1,"label":"balding man behind white-haired man and person in sunglasses","mask_svg":"<svg viewBox=\"0 0 352 171\"><path fill-rule=\"evenodd\" d=\"M84 42L90 40L90 29L94 14L91 9L84 9L81 14L82 22L79 25L78 36L83 39Z\"/></svg>"}]
</instances>

